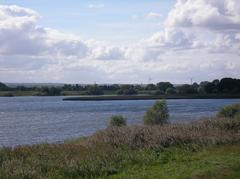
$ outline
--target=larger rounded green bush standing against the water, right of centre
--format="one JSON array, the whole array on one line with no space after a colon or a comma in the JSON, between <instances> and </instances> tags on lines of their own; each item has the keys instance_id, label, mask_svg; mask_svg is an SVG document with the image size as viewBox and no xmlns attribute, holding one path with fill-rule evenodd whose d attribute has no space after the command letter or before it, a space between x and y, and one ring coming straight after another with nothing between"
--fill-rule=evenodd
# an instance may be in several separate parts
<instances>
[{"instance_id":1,"label":"larger rounded green bush standing against the water, right of centre","mask_svg":"<svg viewBox=\"0 0 240 179\"><path fill-rule=\"evenodd\" d=\"M169 118L168 107L166 101L157 101L144 116L144 124L146 125L162 125Z\"/></svg>"}]
</instances>

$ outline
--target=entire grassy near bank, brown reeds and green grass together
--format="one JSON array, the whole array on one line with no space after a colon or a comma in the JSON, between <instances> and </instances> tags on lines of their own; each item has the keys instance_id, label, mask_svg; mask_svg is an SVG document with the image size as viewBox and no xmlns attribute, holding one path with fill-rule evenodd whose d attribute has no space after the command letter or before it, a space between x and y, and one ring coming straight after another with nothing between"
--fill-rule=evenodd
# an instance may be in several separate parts
<instances>
[{"instance_id":1,"label":"entire grassy near bank, brown reeds and green grass together","mask_svg":"<svg viewBox=\"0 0 240 179\"><path fill-rule=\"evenodd\" d=\"M0 178L235 178L240 122L108 128L64 144L0 150Z\"/></svg>"}]
</instances>

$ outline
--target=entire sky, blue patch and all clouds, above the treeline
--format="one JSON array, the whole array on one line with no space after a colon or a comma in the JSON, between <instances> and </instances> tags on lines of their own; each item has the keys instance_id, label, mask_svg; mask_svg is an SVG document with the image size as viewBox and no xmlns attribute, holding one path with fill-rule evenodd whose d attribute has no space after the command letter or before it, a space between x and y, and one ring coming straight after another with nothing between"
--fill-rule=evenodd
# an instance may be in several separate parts
<instances>
[{"instance_id":1,"label":"entire sky, blue patch and all clouds, above the treeline","mask_svg":"<svg viewBox=\"0 0 240 179\"><path fill-rule=\"evenodd\" d=\"M239 0L0 0L0 81L240 78Z\"/></svg>"}]
</instances>

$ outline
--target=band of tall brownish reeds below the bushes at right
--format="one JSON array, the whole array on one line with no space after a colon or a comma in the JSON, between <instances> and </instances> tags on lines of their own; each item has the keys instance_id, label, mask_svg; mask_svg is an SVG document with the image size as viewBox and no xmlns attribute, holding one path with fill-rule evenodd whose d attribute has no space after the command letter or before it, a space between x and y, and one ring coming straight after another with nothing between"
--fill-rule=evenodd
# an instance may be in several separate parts
<instances>
[{"instance_id":1,"label":"band of tall brownish reeds below the bushes at right","mask_svg":"<svg viewBox=\"0 0 240 179\"><path fill-rule=\"evenodd\" d=\"M238 141L240 122L221 118L191 124L166 124L163 126L131 126L108 128L85 141L92 147L99 141L113 147L131 149L162 149L169 146L209 145Z\"/></svg>"}]
</instances>

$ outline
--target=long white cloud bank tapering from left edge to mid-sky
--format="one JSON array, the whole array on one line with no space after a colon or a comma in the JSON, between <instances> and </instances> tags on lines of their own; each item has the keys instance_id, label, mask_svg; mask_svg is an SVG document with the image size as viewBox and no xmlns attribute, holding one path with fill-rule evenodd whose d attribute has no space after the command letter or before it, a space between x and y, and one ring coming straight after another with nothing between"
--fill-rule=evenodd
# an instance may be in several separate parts
<instances>
[{"instance_id":1,"label":"long white cloud bank tapering from left edge to mid-sky","mask_svg":"<svg viewBox=\"0 0 240 179\"><path fill-rule=\"evenodd\" d=\"M0 6L0 55L119 59L121 50L37 25L39 15L17 6Z\"/></svg>"}]
</instances>

